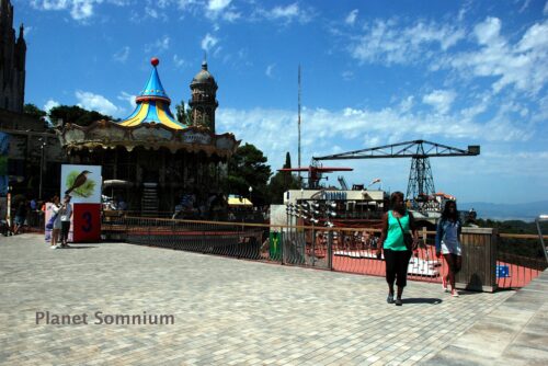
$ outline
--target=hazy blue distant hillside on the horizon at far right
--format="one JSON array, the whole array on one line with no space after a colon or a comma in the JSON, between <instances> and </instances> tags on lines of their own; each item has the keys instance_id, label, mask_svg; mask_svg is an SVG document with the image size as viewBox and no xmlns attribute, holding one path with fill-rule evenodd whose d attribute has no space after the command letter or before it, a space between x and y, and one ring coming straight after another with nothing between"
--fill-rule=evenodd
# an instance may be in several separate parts
<instances>
[{"instance_id":1,"label":"hazy blue distant hillside on the horizon at far right","mask_svg":"<svg viewBox=\"0 0 548 366\"><path fill-rule=\"evenodd\" d=\"M458 203L459 210L469 210L470 208L473 208L478 213L478 218L533 221L540 214L548 215L548 201L529 202L526 204Z\"/></svg>"}]
</instances>

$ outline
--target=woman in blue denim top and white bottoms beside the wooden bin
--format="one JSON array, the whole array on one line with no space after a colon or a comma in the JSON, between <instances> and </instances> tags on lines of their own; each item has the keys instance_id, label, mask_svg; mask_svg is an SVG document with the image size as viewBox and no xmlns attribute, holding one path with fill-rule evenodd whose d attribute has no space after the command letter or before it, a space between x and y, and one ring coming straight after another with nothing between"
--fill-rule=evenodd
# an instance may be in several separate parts
<instances>
[{"instance_id":1,"label":"woman in blue denim top and white bottoms beside the wooden bin","mask_svg":"<svg viewBox=\"0 0 548 366\"><path fill-rule=\"evenodd\" d=\"M439 258L443 254L447 263L447 274L442 277L442 286L448 293L447 285L450 285L453 297L458 297L458 291L455 288L455 276L463 266L463 245L460 245L459 240L461 230L463 222L458 216L457 203L447 201L437 224L436 256Z\"/></svg>"}]
</instances>

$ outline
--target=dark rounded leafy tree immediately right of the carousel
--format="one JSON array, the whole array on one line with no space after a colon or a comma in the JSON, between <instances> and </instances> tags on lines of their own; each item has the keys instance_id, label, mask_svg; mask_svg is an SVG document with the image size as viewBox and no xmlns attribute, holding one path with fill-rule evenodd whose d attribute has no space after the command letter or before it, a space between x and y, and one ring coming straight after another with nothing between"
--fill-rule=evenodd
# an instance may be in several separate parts
<instances>
[{"instance_id":1,"label":"dark rounded leafy tree immediately right of the carousel","mask_svg":"<svg viewBox=\"0 0 548 366\"><path fill-rule=\"evenodd\" d=\"M266 157L255 146L246 144L238 147L236 153L228 161L225 191L249 197L249 187L251 187L251 195L255 206L269 204L266 183L272 175L272 171L266 161Z\"/></svg>"}]
</instances>

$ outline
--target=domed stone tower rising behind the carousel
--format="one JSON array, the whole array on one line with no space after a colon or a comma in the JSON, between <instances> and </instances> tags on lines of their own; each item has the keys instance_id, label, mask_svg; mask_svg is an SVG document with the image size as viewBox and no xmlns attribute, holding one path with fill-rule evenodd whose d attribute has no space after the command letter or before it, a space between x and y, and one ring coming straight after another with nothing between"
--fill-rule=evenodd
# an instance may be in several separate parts
<instances>
[{"instance_id":1,"label":"domed stone tower rising behind the carousel","mask_svg":"<svg viewBox=\"0 0 548 366\"><path fill-rule=\"evenodd\" d=\"M192 79L192 99L189 105L192 108L192 125L209 128L215 134L215 110L217 102L217 82L207 71L207 61L202 62L202 70Z\"/></svg>"}]
</instances>

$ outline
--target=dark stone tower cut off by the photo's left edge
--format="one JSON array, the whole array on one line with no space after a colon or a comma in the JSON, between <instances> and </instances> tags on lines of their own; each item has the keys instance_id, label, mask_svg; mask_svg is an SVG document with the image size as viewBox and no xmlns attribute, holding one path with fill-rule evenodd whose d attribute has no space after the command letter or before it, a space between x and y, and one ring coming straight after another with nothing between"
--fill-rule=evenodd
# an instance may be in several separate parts
<instances>
[{"instance_id":1,"label":"dark stone tower cut off by the photo's left edge","mask_svg":"<svg viewBox=\"0 0 548 366\"><path fill-rule=\"evenodd\" d=\"M25 102L26 43L23 24L15 41L13 5L0 0L0 108L22 113Z\"/></svg>"}]
</instances>

